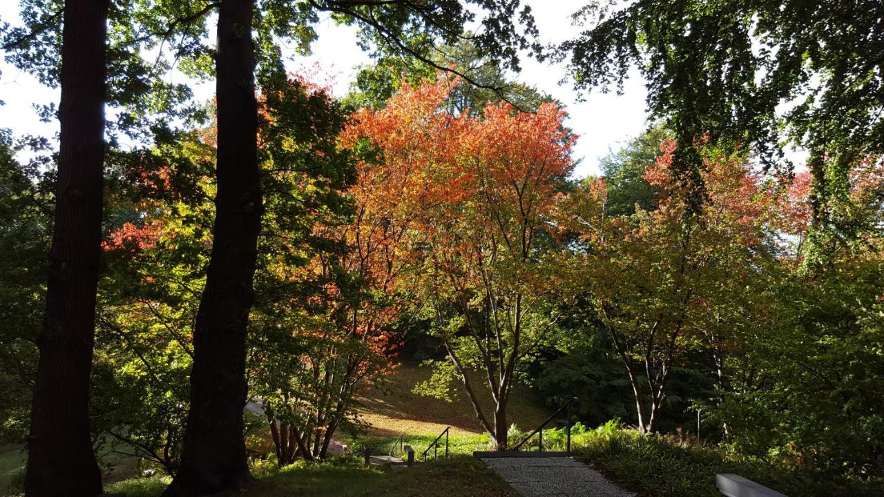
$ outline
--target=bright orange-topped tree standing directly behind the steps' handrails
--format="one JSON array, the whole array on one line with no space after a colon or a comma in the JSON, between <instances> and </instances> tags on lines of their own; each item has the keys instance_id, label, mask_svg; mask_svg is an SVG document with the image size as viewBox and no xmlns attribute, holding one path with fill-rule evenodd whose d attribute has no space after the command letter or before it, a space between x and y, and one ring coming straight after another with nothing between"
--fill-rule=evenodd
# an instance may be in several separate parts
<instances>
[{"instance_id":1,"label":"bright orange-topped tree standing directly behind the steps' handrails","mask_svg":"<svg viewBox=\"0 0 884 497\"><path fill-rule=\"evenodd\" d=\"M550 288L537 274L545 217L573 167L574 138L553 103L537 113L506 103L489 104L481 115L440 111L450 84L401 90L375 114L383 134L370 142L387 164L416 169L419 181L402 195L421 212L413 229L424 239L423 312L450 360L437 372L461 379L478 421L504 448L516 368L555 319L545 301ZM479 402L470 377L476 369L494 398L493 412Z\"/></svg>"}]
</instances>

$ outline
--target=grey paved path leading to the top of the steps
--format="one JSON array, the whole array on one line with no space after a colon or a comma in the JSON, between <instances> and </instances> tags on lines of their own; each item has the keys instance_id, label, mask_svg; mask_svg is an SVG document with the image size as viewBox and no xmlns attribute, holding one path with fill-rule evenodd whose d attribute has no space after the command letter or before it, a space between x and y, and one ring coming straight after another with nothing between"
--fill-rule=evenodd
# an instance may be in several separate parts
<instances>
[{"instance_id":1,"label":"grey paved path leading to the top of the steps","mask_svg":"<svg viewBox=\"0 0 884 497\"><path fill-rule=\"evenodd\" d=\"M483 459L522 497L636 497L573 457Z\"/></svg>"}]
</instances>

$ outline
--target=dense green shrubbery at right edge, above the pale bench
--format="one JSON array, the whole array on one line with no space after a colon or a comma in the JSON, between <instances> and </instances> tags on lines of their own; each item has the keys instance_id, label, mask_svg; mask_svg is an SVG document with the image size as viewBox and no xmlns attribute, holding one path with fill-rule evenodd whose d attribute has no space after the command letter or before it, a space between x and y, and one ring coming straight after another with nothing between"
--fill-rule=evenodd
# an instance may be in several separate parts
<instances>
[{"instance_id":1,"label":"dense green shrubbery at right edge, above the pale bench","mask_svg":"<svg viewBox=\"0 0 884 497\"><path fill-rule=\"evenodd\" d=\"M780 322L735 357L733 392L713 410L737 449L884 474L884 264L876 259L842 259L781 286Z\"/></svg>"}]
</instances>

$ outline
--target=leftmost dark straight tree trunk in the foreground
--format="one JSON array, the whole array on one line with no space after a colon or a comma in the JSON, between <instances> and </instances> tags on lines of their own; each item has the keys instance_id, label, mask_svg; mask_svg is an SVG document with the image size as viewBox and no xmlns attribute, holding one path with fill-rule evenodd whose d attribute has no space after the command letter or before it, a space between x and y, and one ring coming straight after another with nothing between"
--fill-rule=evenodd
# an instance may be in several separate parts
<instances>
[{"instance_id":1,"label":"leftmost dark straight tree trunk in the foreground","mask_svg":"<svg viewBox=\"0 0 884 497\"><path fill-rule=\"evenodd\" d=\"M28 439L28 497L93 497L89 375L102 240L108 0L68 0L61 49L55 227Z\"/></svg>"}]
</instances>

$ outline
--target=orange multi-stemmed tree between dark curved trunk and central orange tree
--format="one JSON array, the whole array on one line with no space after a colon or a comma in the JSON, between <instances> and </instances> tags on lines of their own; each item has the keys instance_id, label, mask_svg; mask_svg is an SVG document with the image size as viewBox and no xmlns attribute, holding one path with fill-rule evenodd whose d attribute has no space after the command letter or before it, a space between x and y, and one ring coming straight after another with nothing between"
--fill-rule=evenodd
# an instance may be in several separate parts
<instances>
[{"instance_id":1,"label":"orange multi-stemmed tree between dark curved trunk and central orange tree","mask_svg":"<svg viewBox=\"0 0 884 497\"><path fill-rule=\"evenodd\" d=\"M310 236L325 247L304 254L304 264L272 264L285 279L314 288L274 304L280 329L266 335L274 353L262 357L262 378L255 378L272 414L280 465L324 458L339 427L358 424L356 396L392 371L399 340L392 325L415 290L406 271L415 243L408 195L415 169L408 160L378 162L365 142L381 139L383 121L395 118L353 116L339 138L339 147L358 157L353 183L342 192L349 209L313 217ZM268 374L271 368L279 373Z\"/></svg>"}]
</instances>

